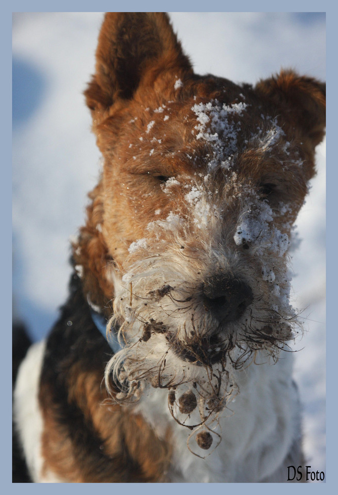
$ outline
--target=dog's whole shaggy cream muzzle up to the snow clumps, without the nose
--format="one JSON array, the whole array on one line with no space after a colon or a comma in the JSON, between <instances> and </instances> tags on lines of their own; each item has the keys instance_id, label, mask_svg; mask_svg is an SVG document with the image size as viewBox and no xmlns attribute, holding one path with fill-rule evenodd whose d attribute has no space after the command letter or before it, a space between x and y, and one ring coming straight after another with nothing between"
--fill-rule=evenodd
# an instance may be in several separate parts
<instances>
[{"instance_id":1,"label":"dog's whole shaggy cream muzzle up to the snow clumps, without the nose","mask_svg":"<svg viewBox=\"0 0 338 495\"><path fill-rule=\"evenodd\" d=\"M271 209L253 204L253 195L241 210L234 235L226 222L220 229L222 213L214 204L210 208L209 198L203 193L198 198L192 204L193 218L205 220L198 229L191 221L186 228L173 213L152 222L149 238L130 247L122 279L113 272L110 328L119 329L123 348L109 361L105 381L121 404L137 401L150 387L167 389L174 419L193 432L203 428L202 448L208 448L206 434L215 431L219 414L226 414L238 393L239 370L260 350L276 361L293 337L296 320L289 303L288 238L273 222L268 228ZM235 247L243 240L250 243L245 254ZM252 291L252 303L225 322L208 310L202 297L207 279L220 273L236 274Z\"/></svg>"}]
</instances>

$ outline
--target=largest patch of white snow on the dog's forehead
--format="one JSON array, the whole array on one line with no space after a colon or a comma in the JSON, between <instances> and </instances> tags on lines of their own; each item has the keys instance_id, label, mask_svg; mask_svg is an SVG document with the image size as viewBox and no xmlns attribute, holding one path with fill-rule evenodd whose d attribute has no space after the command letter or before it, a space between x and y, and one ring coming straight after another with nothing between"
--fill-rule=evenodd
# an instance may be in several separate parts
<instances>
[{"instance_id":1,"label":"largest patch of white snow on the dog's forehead","mask_svg":"<svg viewBox=\"0 0 338 495\"><path fill-rule=\"evenodd\" d=\"M222 105L217 99L193 105L192 110L199 122L195 126L196 139L210 143L213 148L209 171L217 165L230 168L237 152L237 136L241 132L241 122L236 117L241 116L246 107L242 102Z\"/></svg>"}]
</instances>

